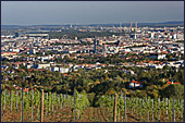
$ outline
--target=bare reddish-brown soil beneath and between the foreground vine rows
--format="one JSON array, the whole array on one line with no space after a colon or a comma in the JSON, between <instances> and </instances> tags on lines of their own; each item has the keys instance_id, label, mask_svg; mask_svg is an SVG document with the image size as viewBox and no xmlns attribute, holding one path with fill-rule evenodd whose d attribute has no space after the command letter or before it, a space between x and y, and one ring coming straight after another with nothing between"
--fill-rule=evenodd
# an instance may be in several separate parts
<instances>
[{"instance_id":1,"label":"bare reddish-brown soil beneath and between the foreground vine rows","mask_svg":"<svg viewBox=\"0 0 185 123\"><path fill-rule=\"evenodd\" d=\"M144 122L144 119L139 120L139 116L131 114L131 112L127 112L126 114L127 122ZM108 109L106 108L88 107L83 111L81 119L77 119L76 114L75 122L112 122L113 121L112 118L113 113L109 112ZM71 107L65 107L62 109L59 108L53 112L47 113L47 115L46 113L44 113L44 122L73 122L73 121L74 121L73 110ZM21 110L18 110L17 112L16 110L13 110L11 112L10 109L7 109L4 114L3 111L1 110L1 122L21 122ZM30 122L30 111L27 112L24 111L24 122ZM39 122L36 110L34 111L33 122ZM120 122L122 122L122 115L120 116ZM125 122L124 113L123 122Z\"/></svg>"}]
</instances>

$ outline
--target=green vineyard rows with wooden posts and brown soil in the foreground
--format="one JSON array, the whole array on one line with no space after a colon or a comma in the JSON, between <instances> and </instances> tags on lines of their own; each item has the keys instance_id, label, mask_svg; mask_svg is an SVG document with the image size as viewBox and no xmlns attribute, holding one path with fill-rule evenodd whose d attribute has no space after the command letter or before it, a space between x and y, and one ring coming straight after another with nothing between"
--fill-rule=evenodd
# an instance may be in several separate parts
<instances>
[{"instance_id":1,"label":"green vineyard rows with wooden posts and brown soil in the foreground","mask_svg":"<svg viewBox=\"0 0 185 123\"><path fill-rule=\"evenodd\" d=\"M87 95L78 91L44 93L44 103L41 95L39 90L3 90L1 122L40 122L41 115L42 122L184 122L184 99L130 98L122 94L99 96L91 107Z\"/></svg>"}]
</instances>

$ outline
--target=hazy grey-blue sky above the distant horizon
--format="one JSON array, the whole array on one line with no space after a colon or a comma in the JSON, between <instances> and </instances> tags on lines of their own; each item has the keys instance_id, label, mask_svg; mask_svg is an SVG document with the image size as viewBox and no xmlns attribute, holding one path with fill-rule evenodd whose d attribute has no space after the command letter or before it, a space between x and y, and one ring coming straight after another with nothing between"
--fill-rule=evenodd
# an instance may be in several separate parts
<instances>
[{"instance_id":1,"label":"hazy grey-blue sky above the distant horizon","mask_svg":"<svg viewBox=\"0 0 185 123\"><path fill-rule=\"evenodd\" d=\"M2 1L2 25L184 21L184 1Z\"/></svg>"}]
</instances>

